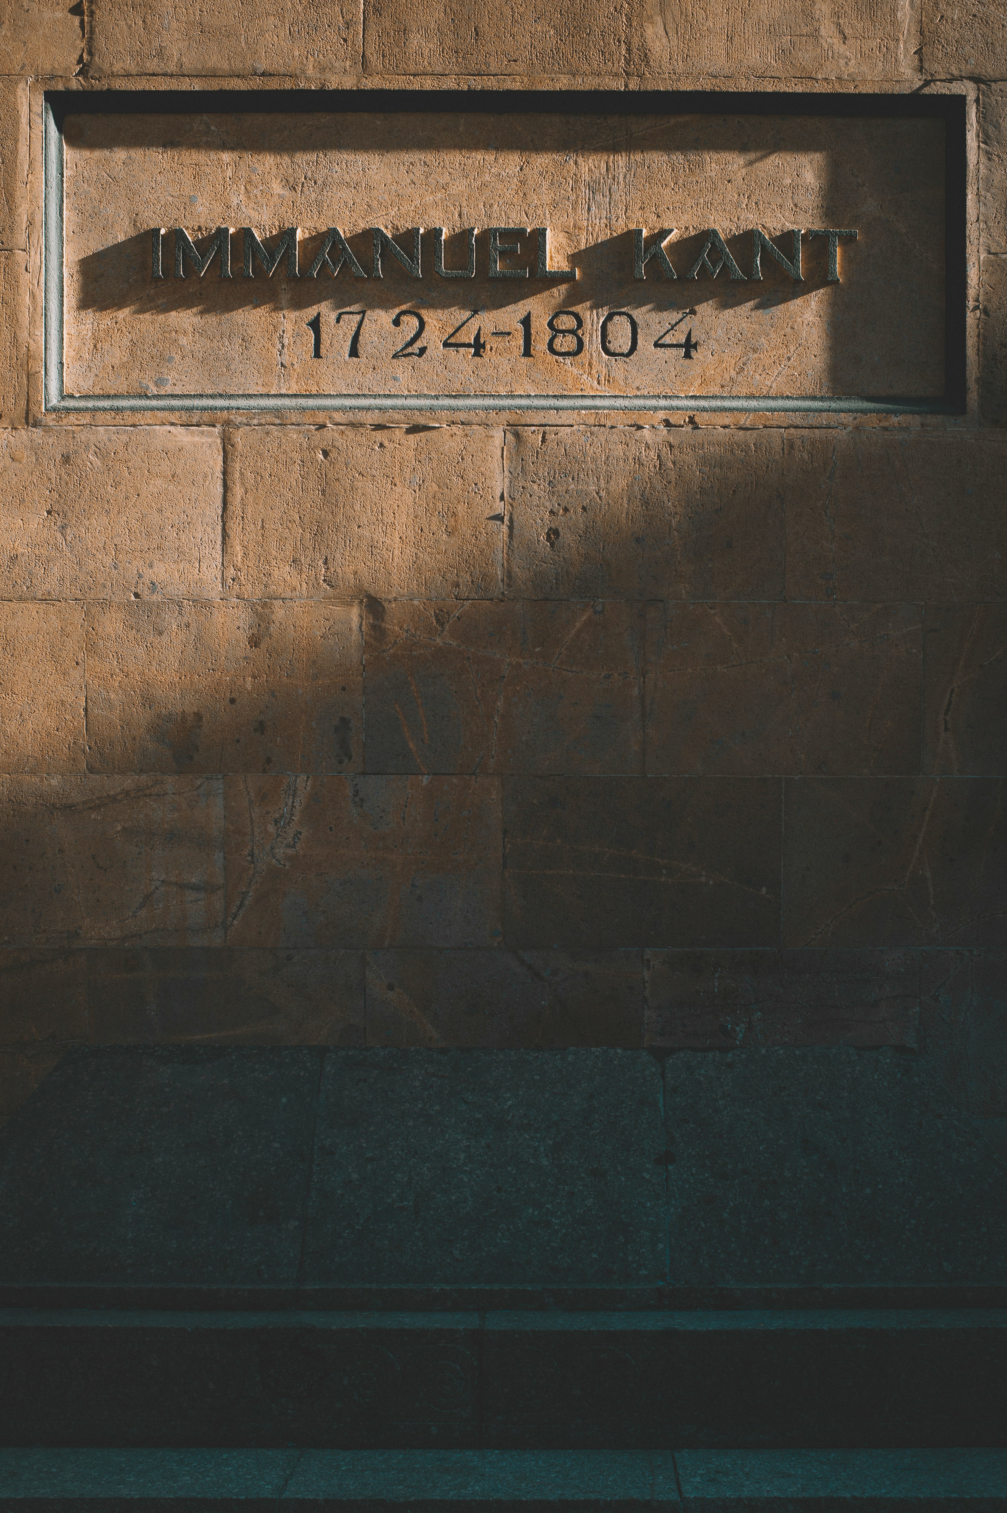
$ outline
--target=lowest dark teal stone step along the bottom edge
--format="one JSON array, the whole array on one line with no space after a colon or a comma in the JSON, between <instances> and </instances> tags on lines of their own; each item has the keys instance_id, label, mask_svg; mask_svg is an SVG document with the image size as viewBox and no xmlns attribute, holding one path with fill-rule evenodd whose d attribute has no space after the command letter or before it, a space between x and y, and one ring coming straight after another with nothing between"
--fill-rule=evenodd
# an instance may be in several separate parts
<instances>
[{"instance_id":1,"label":"lowest dark teal stone step along the bottom edge","mask_svg":"<svg viewBox=\"0 0 1007 1513\"><path fill-rule=\"evenodd\" d=\"M5 1449L5 1513L1002 1513L1002 1449Z\"/></svg>"}]
</instances>

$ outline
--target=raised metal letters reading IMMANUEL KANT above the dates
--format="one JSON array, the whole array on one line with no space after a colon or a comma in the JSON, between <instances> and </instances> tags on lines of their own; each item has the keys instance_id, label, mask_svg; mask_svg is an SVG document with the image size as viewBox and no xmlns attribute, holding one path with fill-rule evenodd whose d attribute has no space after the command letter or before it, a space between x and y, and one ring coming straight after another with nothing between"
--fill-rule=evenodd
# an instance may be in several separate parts
<instances>
[{"instance_id":1,"label":"raised metal letters reading IMMANUEL KANT above the dates","mask_svg":"<svg viewBox=\"0 0 1007 1513\"><path fill-rule=\"evenodd\" d=\"M700 233L702 245L699 253L696 253L696 238L691 238L693 244L693 259L691 266L686 269L683 262L679 263L676 269L671 257L674 256L676 245L670 239L676 235L674 228L656 231L650 242L647 239L647 231L643 227L632 227L632 271L635 278L646 278L647 274L659 274L664 278L699 278L700 274L708 274L711 278L723 271L727 278L732 280L750 280L762 278L762 257L768 256L789 274L795 283L801 283L804 274L801 272L801 238L812 241L813 238L824 238L827 248L827 283L839 283L839 242L844 239L856 241L859 233L856 230L838 230L835 227L812 227L809 230L791 230L782 231L780 236L789 236L789 257L776 245L776 242L767 236L765 231L753 230L751 233L742 233L751 236L751 272L744 272L730 253L727 242L717 230L708 230ZM218 225L216 230L206 239L204 250L200 251L181 227L174 227L174 230L166 231L163 227L154 227L151 231L151 274L154 278L165 278L165 238L171 236L174 239L174 260L172 269L175 278L186 277L186 268L192 269L200 278L209 271L215 259L219 259L218 268L221 278L231 277L231 236L233 228L227 225ZM354 278L384 278L386 259L392 257L395 263L402 266L405 272L413 278L423 277L423 245L425 239L432 239L434 250L434 275L437 278L475 278L476 277L476 236L478 227L467 227L458 235L466 238L467 256L461 266L448 268L445 262L445 227L435 225L431 230L423 230L423 227L413 227L411 231L411 250L395 241L392 235L383 230L380 225L369 227L363 235L370 235L370 271L367 272L361 265L358 256L349 245L346 236L336 225L330 225L324 233L321 247L311 260L310 268L305 274L301 272L301 239L302 231L296 225L287 225L278 233L278 239L272 250L263 245L260 236L249 227L242 227L242 275L245 278L254 278L259 268L266 277L272 277L277 269L286 272L289 278L318 278L318 275L325 269L328 274L336 277L339 272L346 269ZM360 235L360 233L358 233ZM526 245L526 239L534 238L531 245ZM670 244L670 245L668 245ZM514 266L516 259L529 259L523 265ZM576 268L550 268L550 251L549 251L549 227L517 227L517 225L490 225L487 227L485 238L485 272L490 278L546 278L556 281L575 281L578 278ZM286 268L283 266L286 263Z\"/></svg>"}]
</instances>

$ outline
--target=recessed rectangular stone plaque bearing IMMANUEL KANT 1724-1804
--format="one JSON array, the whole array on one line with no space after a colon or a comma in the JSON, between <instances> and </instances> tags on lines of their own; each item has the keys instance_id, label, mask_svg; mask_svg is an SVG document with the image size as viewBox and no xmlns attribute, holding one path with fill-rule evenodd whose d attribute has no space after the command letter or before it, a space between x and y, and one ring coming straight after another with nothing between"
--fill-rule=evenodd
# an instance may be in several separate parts
<instances>
[{"instance_id":1,"label":"recessed rectangular stone plaque bearing IMMANUEL KANT 1724-1804","mask_svg":"<svg viewBox=\"0 0 1007 1513\"><path fill-rule=\"evenodd\" d=\"M62 95L47 409L953 409L959 100Z\"/></svg>"}]
</instances>

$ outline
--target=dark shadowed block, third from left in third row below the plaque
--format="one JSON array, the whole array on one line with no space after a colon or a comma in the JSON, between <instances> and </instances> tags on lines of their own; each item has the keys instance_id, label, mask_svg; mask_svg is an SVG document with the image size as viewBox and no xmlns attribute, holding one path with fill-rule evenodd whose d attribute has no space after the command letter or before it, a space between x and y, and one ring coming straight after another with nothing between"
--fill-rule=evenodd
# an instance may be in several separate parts
<instances>
[{"instance_id":1,"label":"dark shadowed block, third from left in third row below the plaque","mask_svg":"<svg viewBox=\"0 0 1007 1513\"><path fill-rule=\"evenodd\" d=\"M507 944L773 946L780 782L508 778Z\"/></svg>"}]
</instances>

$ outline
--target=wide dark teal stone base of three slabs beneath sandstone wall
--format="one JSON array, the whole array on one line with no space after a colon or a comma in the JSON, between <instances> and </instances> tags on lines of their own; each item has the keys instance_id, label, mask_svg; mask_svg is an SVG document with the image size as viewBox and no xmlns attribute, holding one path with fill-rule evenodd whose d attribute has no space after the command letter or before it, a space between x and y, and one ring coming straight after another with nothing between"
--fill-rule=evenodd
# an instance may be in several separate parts
<instances>
[{"instance_id":1,"label":"wide dark teal stone base of three slabs beneath sandstone wall","mask_svg":"<svg viewBox=\"0 0 1007 1513\"><path fill-rule=\"evenodd\" d=\"M0 1295L989 1294L992 1123L892 1050L94 1047L0 1132Z\"/></svg>"}]
</instances>

